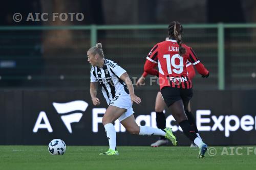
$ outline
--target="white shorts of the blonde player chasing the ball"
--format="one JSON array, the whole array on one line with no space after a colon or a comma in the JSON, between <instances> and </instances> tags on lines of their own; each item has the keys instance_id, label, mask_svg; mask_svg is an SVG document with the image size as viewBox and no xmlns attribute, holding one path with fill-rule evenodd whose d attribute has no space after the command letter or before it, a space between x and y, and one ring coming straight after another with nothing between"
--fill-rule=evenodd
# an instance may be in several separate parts
<instances>
[{"instance_id":1,"label":"white shorts of the blonde player chasing the ball","mask_svg":"<svg viewBox=\"0 0 256 170\"><path fill-rule=\"evenodd\" d=\"M110 106L116 106L122 109L126 109L126 112L124 112L118 118L119 122L121 122L122 120L131 116L134 113L130 94L116 95L114 100L111 102Z\"/></svg>"}]
</instances>

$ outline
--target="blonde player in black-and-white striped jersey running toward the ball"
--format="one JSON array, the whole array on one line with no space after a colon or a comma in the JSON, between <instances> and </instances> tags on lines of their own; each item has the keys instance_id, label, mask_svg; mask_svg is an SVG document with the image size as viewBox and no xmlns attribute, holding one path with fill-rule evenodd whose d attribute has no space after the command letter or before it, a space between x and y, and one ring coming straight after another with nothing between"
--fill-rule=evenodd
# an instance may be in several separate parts
<instances>
[{"instance_id":1,"label":"blonde player in black-and-white striped jersey running toward the ball","mask_svg":"<svg viewBox=\"0 0 256 170\"><path fill-rule=\"evenodd\" d=\"M172 129L163 130L148 126L138 126L135 122L133 102L140 104L141 99L134 94L134 88L127 72L117 63L104 59L101 43L97 43L87 52L88 62L91 68L90 94L93 105L99 105L97 98L97 83L101 86L102 93L109 107L102 118L102 124L109 139L110 148L100 155L118 155L116 149L116 131L113 123L116 119L131 134L135 135L161 135L176 145L176 137Z\"/></svg>"}]
</instances>

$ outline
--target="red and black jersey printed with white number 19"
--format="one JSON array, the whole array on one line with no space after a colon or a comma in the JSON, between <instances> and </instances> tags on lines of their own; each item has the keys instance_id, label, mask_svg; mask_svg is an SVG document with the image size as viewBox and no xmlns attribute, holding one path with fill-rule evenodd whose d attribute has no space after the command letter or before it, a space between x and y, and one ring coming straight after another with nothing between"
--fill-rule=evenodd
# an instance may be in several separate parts
<instances>
[{"instance_id":1,"label":"red and black jersey printed with white number 19","mask_svg":"<svg viewBox=\"0 0 256 170\"><path fill-rule=\"evenodd\" d=\"M208 70L200 63L193 49L182 44L186 49L183 56L179 55L179 45L176 40L166 40L157 43L146 57L144 71L159 77L160 89L165 86L191 88L192 83L187 75L186 63L196 66L201 75L207 75ZM158 65L158 70L154 69Z\"/></svg>"}]
</instances>

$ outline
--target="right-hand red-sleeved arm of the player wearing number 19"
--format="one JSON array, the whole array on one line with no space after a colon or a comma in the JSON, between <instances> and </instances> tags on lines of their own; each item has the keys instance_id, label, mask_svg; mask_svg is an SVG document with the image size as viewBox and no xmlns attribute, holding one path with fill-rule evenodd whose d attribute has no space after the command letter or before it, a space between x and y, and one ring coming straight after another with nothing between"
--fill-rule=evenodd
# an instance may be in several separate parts
<instances>
[{"instance_id":1,"label":"right-hand red-sleeved arm of the player wearing number 19","mask_svg":"<svg viewBox=\"0 0 256 170\"><path fill-rule=\"evenodd\" d=\"M193 49L190 47L188 50L188 61L191 62L193 65L195 65L197 72L202 75L202 77L208 77L209 71L204 67L204 65L200 62L200 60L197 58L196 53L193 51Z\"/></svg>"}]
</instances>

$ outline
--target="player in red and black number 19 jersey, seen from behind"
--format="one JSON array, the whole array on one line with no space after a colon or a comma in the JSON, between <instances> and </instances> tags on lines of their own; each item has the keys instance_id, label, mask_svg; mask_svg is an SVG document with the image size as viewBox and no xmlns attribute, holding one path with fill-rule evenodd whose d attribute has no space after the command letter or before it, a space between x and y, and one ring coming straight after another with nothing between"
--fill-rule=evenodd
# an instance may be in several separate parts
<instances>
[{"instance_id":1,"label":"player in red and black number 19 jersey, seen from behind","mask_svg":"<svg viewBox=\"0 0 256 170\"><path fill-rule=\"evenodd\" d=\"M208 146L196 134L196 126L189 123L188 103L193 96L192 83L187 76L186 62L191 62L202 75L209 71L197 58L191 47L182 43L183 28L177 21L168 27L169 40L157 43L146 57L144 71L159 77L161 94L167 107L179 123L183 133L199 147L203 158ZM158 65L158 70L155 67Z\"/></svg>"}]
</instances>

